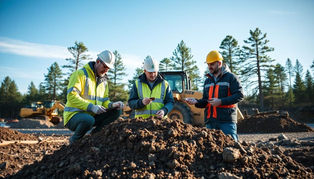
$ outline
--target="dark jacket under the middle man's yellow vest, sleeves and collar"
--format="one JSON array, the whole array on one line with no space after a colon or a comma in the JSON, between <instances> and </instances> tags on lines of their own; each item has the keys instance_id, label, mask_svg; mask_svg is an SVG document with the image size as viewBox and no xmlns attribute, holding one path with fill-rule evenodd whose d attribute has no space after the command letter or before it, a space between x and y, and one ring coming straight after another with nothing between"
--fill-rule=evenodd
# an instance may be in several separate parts
<instances>
[{"instance_id":1,"label":"dark jacket under the middle man's yellow vest, sleeves and collar","mask_svg":"<svg viewBox=\"0 0 314 179\"><path fill-rule=\"evenodd\" d=\"M152 89L155 86L157 86L159 83L164 81L164 76L158 72L157 79L156 79L152 88L150 87L149 83L147 82L147 78L146 78L145 73L138 76L138 79L140 79L139 82L147 84L149 86L150 91L152 91ZM140 99L138 97L138 89L137 89L136 84L134 82L133 87L132 87L131 92L130 92L130 97L129 97L129 100L127 101L127 103L129 104L129 107L131 109L136 110L136 109L143 108L145 106L145 105L143 105L142 100L143 99ZM172 110L174 103L175 103L175 101L172 97L172 91L170 89L170 85L168 85L168 87L166 89L164 103L165 103L165 106L162 107L161 109L163 109L165 111L165 115L166 115Z\"/></svg>"}]
</instances>

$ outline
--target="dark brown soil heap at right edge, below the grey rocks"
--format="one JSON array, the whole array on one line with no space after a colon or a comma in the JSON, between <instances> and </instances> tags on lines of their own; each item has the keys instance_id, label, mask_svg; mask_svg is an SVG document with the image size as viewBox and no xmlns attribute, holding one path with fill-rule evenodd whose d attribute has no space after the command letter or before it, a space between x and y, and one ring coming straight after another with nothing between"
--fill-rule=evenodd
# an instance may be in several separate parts
<instances>
[{"instance_id":1,"label":"dark brown soil heap at right edge, below the grey rocks","mask_svg":"<svg viewBox=\"0 0 314 179\"><path fill-rule=\"evenodd\" d=\"M284 155L290 156L293 160L299 162L303 166L311 167L314 166L314 148L303 148L303 149L287 149Z\"/></svg>"}]
</instances>

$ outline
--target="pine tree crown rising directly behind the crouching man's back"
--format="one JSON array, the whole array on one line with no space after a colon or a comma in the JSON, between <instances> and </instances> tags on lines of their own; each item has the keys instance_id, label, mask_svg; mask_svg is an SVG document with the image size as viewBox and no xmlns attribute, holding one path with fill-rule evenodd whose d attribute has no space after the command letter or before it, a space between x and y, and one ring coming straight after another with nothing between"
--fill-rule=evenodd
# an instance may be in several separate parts
<instances>
[{"instance_id":1,"label":"pine tree crown rising directly behind the crouching man's back","mask_svg":"<svg viewBox=\"0 0 314 179\"><path fill-rule=\"evenodd\" d=\"M68 47L68 51L73 55L73 58L65 59L66 61L69 61L69 64L62 66L62 68L69 68L71 71L69 74L71 74L73 71L77 71L78 68L84 65L81 61L92 59L89 58L89 55L85 54L88 52L88 50L83 42L75 41L75 45L73 47Z\"/></svg>"}]
</instances>

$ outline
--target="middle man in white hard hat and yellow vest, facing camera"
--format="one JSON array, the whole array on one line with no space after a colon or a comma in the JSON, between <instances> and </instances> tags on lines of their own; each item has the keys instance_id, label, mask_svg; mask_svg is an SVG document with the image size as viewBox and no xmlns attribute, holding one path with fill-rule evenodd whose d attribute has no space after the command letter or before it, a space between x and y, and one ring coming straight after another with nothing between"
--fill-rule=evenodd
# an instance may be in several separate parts
<instances>
[{"instance_id":1,"label":"middle man in white hard hat and yellow vest, facing camera","mask_svg":"<svg viewBox=\"0 0 314 179\"><path fill-rule=\"evenodd\" d=\"M135 117L158 116L167 118L174 106L169 83L160 74L159 64L154 58L147 58L143 64L144 73L138 76L130 92L128 105L135 110Z\"/></svg>"}]
</instances>

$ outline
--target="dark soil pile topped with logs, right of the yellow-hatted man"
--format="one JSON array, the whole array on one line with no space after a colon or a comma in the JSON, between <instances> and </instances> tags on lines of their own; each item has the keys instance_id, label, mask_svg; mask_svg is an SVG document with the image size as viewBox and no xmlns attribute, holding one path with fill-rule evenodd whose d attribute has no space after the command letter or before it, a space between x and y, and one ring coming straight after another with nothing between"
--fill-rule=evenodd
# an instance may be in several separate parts
<instances>
[{"instance_id":1,"label":"dark soil pile topped with logs, right of the yellow-hatted man","mask_svg":"<svg viewBox=\"0 0 314 179\"><path fill-rule=\"evenodd\" d=\"M279 115L253 116L241 120L237 124L238 133L281 133L281 132L313 132L305 124Z\"/></svg>"}]
</instances>

